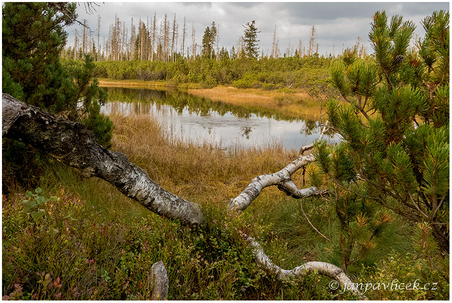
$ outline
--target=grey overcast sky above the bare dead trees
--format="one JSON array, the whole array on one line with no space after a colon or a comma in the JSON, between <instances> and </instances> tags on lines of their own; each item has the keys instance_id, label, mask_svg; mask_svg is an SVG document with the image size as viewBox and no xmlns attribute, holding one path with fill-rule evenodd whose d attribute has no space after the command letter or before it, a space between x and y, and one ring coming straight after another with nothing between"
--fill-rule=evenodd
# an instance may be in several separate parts
<instances>
[{"instance_id":1,"label":"grey overcast sky above the bare dead trees","mask_svg":"<svg viewBox=\"0 0 452 303\"><path fill-rule=\"evenodd\" d=\"M80 2L79 2L80 3ZM279 39L281 55L287 46L298 47L301 39L302 45L309 47L310 28L316 28L316 43L319 44L319 54L325 55L342 51L356 44L357 38L365 43L367 52L372 49L368 42L371 17L377 10L385 10L390 17L400 14L404 20L415 22L415 33L424 35L421 20L432 14L435 10L449 10L449 2L103 2L99 3L93 14L87 14L85 6L81 4L77 11L79 20L87 19L91 30L97 31L97 16L100 15L100 43L103 38L107 40L108 27L114 23L115 14L122 22L125 22L130 39L131 18L134 24L138 20L149 20L156 13L157 25L164 19L165 14L171 20L176 14L179 24L179 40L181 41L183 18L186 18L187 40L191 43L191 25L194 22L196 30L196 42L201 44L204 29L210 26L212 21L219 25L220 48L225 46L228 50L237 44L243 35L242 25L256 20L256 26L261 32L258 34L260 52L271 52L272 36L276 25L276 35ZM80 25L66 28L69 34L68 44L74 45L74 29L78 32ZM95 34L97 37L97 33ZM97 40L97 39L95 39ZM180 50L181 42L178 43ZM185 47L186 49L186 47Z\"/></svg>"}]
</instances>

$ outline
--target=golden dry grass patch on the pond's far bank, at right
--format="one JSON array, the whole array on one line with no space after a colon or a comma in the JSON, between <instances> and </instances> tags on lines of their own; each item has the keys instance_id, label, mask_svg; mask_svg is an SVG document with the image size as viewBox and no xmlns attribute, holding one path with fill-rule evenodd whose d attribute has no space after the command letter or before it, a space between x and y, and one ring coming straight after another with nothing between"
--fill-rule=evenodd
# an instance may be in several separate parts
<instances>
[{"instance_id":1,"label":"golden dry grass patch on the pond's far bank, at right","mask_svg":"<svg viewBox=\"0 0 452 303\"><path fill-rule=\"evenodd\" d=\"M293 94L281 91L264 91L261 89L237 89L218 86L212 89L189 89L188 93L235 105L249 105L271 108L281 114L294 118L308 117L318 119L323 105L312 99L305 91L296 90Z\"/></svg>"}]
</instances>

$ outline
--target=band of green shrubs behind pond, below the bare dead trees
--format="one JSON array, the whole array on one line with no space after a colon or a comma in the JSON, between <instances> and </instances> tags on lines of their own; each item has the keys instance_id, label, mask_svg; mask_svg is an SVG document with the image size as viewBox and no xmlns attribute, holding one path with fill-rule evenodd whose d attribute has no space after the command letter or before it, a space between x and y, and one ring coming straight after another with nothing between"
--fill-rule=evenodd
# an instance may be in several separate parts
<instances>
[{"instance_id":1,"label":"band of green shrubs behind pond, below the bare dead trees","mask_svg":"<svg viewBox=\"0 0 452 303\"><path fill-rule=\"evenodd\" d=\"M93 76L119 80L171 81L173 85L198 83L203 88L232 85L264 90L307 89L314 99L332 95L326 58L242 58L223 56L220 61L206 57L176 62L102 61L95 62Z\"/></svg>"}]
</instances>

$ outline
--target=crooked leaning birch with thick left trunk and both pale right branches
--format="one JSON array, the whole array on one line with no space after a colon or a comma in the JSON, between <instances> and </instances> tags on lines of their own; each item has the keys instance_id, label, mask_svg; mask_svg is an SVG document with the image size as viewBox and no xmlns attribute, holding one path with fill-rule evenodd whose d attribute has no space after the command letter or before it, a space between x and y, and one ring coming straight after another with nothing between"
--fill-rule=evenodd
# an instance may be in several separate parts
<instances>
[{"instance_id":1,"label":"crooked leaning birch with thick left trunk and both pale right branches","mask_svg":"<svg viewBox=\"0 0 452 303\"><path fill-rule=\"evenodd\" d=\"M83 177L98 177L109 182L127 197L159 215L179 219L181 223L190 226L197 226L205 220L199 204L186 201L161 188L144 170L131 163L126 155L97 144L93 134L79 122L56 117L2 94L2 136L33 145L61 163L75 168ZM263 188L271 185L276 185L297 198L317 194L315 188L297 190L290 180L296 170L313 160L312 155L300 156L280 172L255 178L239 197L231 200L229 209L245 209ZM341 268L324 262L308 262L292 270L284 270L273 264L257 241L246 235L245 237L256 262L279 279L302 278L316 271L337 280L344 288L361 296Z\"/></svg>"}]
</instances>

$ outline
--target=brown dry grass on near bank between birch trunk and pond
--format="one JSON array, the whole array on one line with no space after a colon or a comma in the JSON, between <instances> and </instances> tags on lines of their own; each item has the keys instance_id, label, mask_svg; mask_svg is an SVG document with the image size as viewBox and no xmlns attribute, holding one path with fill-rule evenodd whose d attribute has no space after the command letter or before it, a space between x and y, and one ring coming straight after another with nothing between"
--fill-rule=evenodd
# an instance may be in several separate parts
<instances>
[{"instance_id":1,"label":"brown dry grass on near bank between birch trunk and pond","mask_svg":"<svg viewBox=\"0 0 452 303\"><path fill-rule=\"evenodd\" d=\"M112 115L110 119L115 125L112 149L125 153L165 189L201 203L213 199L224 206L253 178L279 171L298 156L281 146L226 154L213 146L198 147L171 138L149 117ZM294 181L302 182L296 176ZM281 197L277 189L265 192L267 198Z\"/></svg>"}]
</instances>

